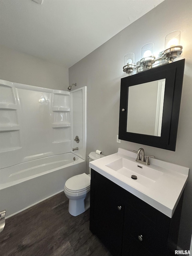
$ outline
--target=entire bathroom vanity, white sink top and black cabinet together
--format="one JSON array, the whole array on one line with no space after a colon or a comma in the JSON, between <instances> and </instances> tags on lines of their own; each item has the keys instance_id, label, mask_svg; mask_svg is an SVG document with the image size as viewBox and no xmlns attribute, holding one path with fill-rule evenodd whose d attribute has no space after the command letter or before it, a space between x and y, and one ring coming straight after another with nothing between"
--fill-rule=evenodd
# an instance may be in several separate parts
<instances>
[{"instance_id":1,"label":"entire bathroom vanity, white sink top and black cabinet together","mask_svg":"<svg viewBox=\"0 0 192 256\"><path fill-rule=\"evenodd\" d=\"M136 157L119 149L90 162L90 230L112 255L174 255L189 169L157 159L144 166Z\"/></svg>"}]
</instances>

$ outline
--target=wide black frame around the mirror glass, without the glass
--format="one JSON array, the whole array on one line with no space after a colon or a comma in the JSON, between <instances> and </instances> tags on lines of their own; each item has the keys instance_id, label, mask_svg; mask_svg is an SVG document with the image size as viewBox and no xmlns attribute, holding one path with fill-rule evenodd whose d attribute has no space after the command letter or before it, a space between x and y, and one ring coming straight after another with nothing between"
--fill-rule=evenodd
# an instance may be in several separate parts
<instances>
[{"instance_id":1,"label":"wide black frame around the mirror glass, without the glass","mask_svg":"<svg viewBox=\"0 0 192 256\"><path fill-rule=\"evenodd\" d=\"M161 149L176 150L185 59L121 79L119 139ZM129 86L166 79L161 137L127 132ZM137 100L137 99L136 99ZM122 111L125 109L125 111ZM141 110L142 111L142 110ZM143 113L147 115L147 113ZM137 118L137 117L136 117Z\"/></svg>"}]
</instances>

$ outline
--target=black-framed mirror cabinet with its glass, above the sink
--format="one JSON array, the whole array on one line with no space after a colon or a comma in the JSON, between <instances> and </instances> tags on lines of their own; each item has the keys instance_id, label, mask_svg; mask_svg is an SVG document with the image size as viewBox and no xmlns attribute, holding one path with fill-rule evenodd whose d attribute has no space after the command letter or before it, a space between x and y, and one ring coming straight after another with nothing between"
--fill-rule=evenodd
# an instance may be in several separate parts
<instances>
[{"instance_id":1,"label":"black-framed mirror cabinet with its glass, above the sink","mask_svg":"<svg viewBox=\"0 0 192 256\"><path fill-rule=\"evenodd\" d=\"M184 62L121 79L119 139L175 151Z\"/></svg>"}]
</instances>

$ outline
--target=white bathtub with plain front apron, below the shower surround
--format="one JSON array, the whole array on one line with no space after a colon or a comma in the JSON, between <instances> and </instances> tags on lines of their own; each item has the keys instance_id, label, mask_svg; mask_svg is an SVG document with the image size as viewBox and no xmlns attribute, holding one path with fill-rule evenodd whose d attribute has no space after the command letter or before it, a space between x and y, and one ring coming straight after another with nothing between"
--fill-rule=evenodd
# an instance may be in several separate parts
<instances>
[{"instance_id":1,"label":"white bathtub with plain front apron, below the shower surround","mask_svg":"<svg viewBox=\"0 0 192 256\"><path fill-rule=\"evenodd\" d=\"M0 209L5 209L9 218L60 193L67 179L85 170L86 161L73 153L0 169Z\"/></svg>"}]
</instances>

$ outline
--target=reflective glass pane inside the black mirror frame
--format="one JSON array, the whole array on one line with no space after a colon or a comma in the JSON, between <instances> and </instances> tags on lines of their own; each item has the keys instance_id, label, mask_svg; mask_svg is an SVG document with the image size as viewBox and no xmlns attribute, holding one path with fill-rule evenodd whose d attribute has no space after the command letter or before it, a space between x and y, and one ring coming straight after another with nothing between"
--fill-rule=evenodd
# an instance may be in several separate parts
<instances>
[{"instance_id":1,"label":"reflective glass pane inside the black mirror frame","mask_svg":"<svg viewBox=\"0 0 192 256\"><path fill-rule=\"evenodd\" d=\"M161 137L165 80L129 86L127 132Z\"/></svg>"}]
</instances>

